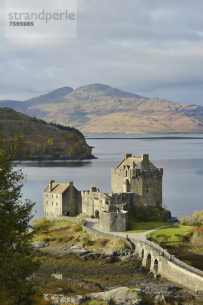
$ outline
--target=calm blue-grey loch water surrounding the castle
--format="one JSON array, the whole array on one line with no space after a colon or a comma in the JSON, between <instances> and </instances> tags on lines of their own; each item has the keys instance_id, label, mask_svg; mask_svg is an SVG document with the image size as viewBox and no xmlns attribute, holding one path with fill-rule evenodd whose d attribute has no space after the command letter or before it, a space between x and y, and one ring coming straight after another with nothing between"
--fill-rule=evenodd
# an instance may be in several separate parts
<instances>
[{"instance_id":1,"label":"calm blue-grey loch water surrounding the castle","mask_svg":"<svg viewBox=\"0 0 203 305\"><path fill-rule=\"evenodd\" d=\"M111 168L122 161L123 153L138 157L147 153L156 167L163 168L163 206L167 206L173 216L191 215L195 209L203 209L203 139L130 139L143 136L148 137L87 135L87 143L95 147L96 160L23 162L21 167L27 181L22 191L24 198L36 201L35 218L43 217L43 191L50 179L61 183L74 181L78 190L89 190L90 184L95 184L101 192L110 192ZM115 139L109 139L112 137Z\"/></svg>"}]
</instances>

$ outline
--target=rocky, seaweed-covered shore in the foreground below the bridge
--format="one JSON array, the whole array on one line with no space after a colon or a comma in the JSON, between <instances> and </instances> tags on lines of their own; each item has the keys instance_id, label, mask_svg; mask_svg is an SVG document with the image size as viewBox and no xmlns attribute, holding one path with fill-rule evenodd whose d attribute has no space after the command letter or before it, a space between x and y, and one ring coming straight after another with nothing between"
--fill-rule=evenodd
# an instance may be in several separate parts
<instances>
[{"instance_id":1,"label":"rocky, seaweed-covered shore in the foreground below the bridge","mask_svg":"<svg viewBox=\"0 0 203 305\"><path fill-rule=\"evenodd\" d=\"M42 291L44 298L54 305L110 298L118 305L203 303L203 295L198 292L188 291L166 279L154 279L141 266L137 253L131 250L105 249L103 253L95 253L83 245L53 249L41 242L33 243L33 249L41 262L36 277L49 278Z\"/></svg>"}]
</instances>

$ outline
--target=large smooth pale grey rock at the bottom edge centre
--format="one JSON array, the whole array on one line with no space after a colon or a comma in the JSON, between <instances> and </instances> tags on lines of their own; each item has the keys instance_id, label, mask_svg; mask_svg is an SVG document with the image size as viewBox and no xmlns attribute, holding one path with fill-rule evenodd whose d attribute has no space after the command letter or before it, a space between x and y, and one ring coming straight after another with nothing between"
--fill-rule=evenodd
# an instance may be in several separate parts
<instances>
[{"instance_id":1,"label":"large smooth pale grey rock at the bottom edge centre","mask_svg":"<svg viewBox=\"0 0 203 305\"><path fill-rule=\"evenodd\" d=\"M119 287L110 291L91 293L88 298L95 301L107 301L114 298L120 305L140 305L142 298L137 289L129 289L128 287Z\"/></svg>"}]
</instances>

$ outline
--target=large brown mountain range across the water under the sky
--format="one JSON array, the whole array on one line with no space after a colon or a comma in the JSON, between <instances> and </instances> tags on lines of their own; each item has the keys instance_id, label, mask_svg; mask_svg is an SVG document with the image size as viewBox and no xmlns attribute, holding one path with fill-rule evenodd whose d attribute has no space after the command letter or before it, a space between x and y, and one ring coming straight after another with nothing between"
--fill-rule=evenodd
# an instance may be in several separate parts
<instances>
[{"instance_id":1,"label":"large brown mountain range across the water under the sky","mask_svg":"<svg viewBox=\"0 0 203 305\"><path fill-rule=\"evenodd\" d=\"M63 87L27 101L0 101L17 111L86 134L203 133L203 107L150 99L104 84Z\"/></svg>"}]
</instances>

